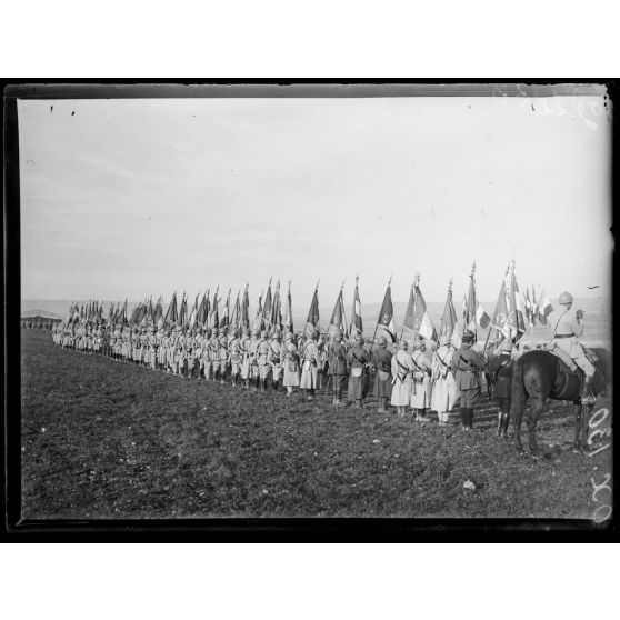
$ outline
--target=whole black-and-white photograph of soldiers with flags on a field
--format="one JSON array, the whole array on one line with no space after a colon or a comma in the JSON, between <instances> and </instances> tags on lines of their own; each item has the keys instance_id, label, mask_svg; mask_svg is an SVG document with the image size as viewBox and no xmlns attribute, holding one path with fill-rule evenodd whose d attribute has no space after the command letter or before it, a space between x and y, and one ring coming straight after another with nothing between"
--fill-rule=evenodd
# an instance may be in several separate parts
<instances>
[{"instance_id":1,"label":"whole black-and-white photograph of soldiers with flags on a field","mask_svg":"<svg viewBox=\"0 0 620 620\"><path fill-rule=\"evenodd\" d=\"M18 524L610 522L603 83L7 97Z\"/></svg>"}]
</instances>

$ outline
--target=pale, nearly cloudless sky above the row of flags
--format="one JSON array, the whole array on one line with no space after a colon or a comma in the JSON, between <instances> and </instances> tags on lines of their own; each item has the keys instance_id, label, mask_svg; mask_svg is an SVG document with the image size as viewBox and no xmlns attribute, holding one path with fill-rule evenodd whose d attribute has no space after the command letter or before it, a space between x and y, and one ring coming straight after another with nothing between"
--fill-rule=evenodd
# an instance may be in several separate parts
<instances>
[{"instance_id":1,"label":"pale, nearly cloudless sky above the row of flags","mask_svg":"<svg viewBox=\"0 0 620 620\"><path fill-rule=\"evenodd\" d=\"M18 102L22 299L611 296L600 97ZM52 108L53 107L53 108ZM598 289L588 287L599 286ZM347 301L348 303L348 301Z\"/></svg>"}]
</instances>

